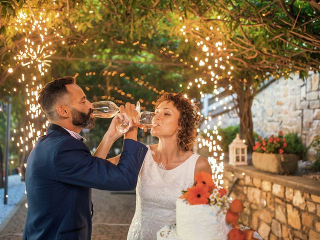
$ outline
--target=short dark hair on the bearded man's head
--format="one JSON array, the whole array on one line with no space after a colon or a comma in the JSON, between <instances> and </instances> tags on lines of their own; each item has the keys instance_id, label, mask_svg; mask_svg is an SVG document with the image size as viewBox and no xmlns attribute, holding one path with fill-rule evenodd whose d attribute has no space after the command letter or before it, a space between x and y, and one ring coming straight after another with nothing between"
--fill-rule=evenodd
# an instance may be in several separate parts
<instances>
[{"instance_id":1,"label":"short dark hair on the bearded man's head","mask_svg":"<svg viewBox=\"0 0 320 240\"><path fill-rule=\"evenodd\" d=\"M57 101L68 94L66 84L75 82L73 76L63 76L46 83L38 92L38 102L48 119L55 118Z\"/></svg>"}]
</instances>

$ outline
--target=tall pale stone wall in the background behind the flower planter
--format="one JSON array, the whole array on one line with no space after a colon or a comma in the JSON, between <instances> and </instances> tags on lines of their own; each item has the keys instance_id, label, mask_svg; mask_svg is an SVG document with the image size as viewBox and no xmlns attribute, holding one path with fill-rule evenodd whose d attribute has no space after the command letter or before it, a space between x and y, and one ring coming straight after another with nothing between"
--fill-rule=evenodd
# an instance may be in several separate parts
<instances>
[{"instance_id":1,"label":"tall pale stone wall in the background behind the flower planter","mask_svg":"<svg viewBox=\"0 0 320 240\"><path fill-rule=\"evenodd\" d=\"M310 72L303 80L295 73L290 78L280 78L256 95L252 104L254 131L262 136L279 130L296 132L309 145L320 134L319 74Z\"/></svg>"}]
</instances>

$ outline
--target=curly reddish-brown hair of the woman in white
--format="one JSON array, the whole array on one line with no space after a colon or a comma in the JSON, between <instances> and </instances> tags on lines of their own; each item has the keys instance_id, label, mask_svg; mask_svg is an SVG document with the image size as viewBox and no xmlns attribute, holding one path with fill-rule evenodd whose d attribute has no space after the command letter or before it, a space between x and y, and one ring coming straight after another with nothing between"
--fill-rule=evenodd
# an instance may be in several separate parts
<instances>
[{"instance_id":1,"label":"curly reddish-brown hair of the woman in white","mask_svg":"<svg viewBox=\"0 0 320 240\"><path fill-rule=\"evenodd\" d=\"M178 131L177 145L182 151L191 150L200 119L200 116L197 114L200 111L199 107L185 98L181 92L164 92L156 100L155 108L162 101L172 101L173 105L180 112L178 125L181 129Z\"/></svg>"}]
</instances>

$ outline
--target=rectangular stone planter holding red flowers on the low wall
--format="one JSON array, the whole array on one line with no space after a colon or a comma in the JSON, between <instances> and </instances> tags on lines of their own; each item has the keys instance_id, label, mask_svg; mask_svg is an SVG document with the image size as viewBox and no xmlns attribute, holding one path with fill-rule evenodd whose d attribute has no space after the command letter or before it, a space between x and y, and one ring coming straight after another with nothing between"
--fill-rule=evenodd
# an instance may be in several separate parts
<instances>
[{"instance_id":1,"label":"rectangular stone planter holding red flowers on the low wall","mask_svg":"<svg viewBox=\"0 0 320 240\"><path fill-rule=\"evenodd\" d=\"M275 174L294 173L299 157L295 154L271 154L253 151L252 164L255 168Z\"/></svg>"}]
</instances>

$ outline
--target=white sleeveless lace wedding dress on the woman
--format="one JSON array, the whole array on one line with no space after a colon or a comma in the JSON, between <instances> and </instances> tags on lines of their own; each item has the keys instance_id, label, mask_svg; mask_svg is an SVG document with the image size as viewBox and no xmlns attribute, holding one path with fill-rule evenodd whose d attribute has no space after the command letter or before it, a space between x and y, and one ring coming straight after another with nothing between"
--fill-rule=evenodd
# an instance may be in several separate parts
<instances>
[{"instance_id":1,"label":"white sleeveless lace wedding dress on the woman","mask_svg":"<svg viewBox=\"0 0 320 240\"><path fill-rule=\"evenodd\" d=\"M152 157L148 147L136 185L135 213L127 240L156 239L156 232L175 223L175 201L181 190L193 185L194 167L199 155L193 153L177 167L165 170Z\"/></svg>"}]
</instances>

